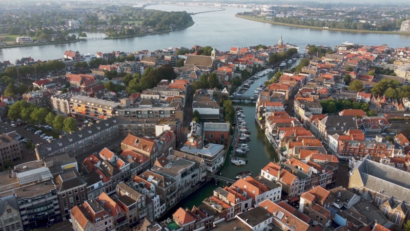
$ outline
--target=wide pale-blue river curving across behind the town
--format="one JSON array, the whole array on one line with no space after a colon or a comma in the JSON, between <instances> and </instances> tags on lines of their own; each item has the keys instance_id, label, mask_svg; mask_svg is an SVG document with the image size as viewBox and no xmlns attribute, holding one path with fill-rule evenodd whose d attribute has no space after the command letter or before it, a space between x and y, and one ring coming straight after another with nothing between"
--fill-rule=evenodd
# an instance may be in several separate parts
<instances>
[{"instance_id":1,"label":"wide pale-blue river curving across behind the town","mask_svg":"<svg viewBox=\"0 0 410 231\"><path fill-rule=\"evenodd\" d=\"M185 10L201 12L215 8L190 7L175 5L151 5L148 9L167 11ZM194 45L212 46L217 50L228 51L231 47L248 47L258 44L275 45L283 36L284 43L301 47L308 44L334 46L342 42L352 42L366 45L387 44L390 47L410 46L410 36L398 34L353 33L329 30L297 28L267 23L259 23L235 17L235 14L251 9L226 8L224 11L199 13L192 15L195 24L187 29L168 33L122 38L115 40L80 41L69 44L45 46L29 46L0 49L0 61L31 56L35 60L52 60L63 57L66 50L92 53L97 51L156 50L169 47L188 47ZM88 37L104 37L102 33L87 33Z\"/></svg>"}]
</instances>

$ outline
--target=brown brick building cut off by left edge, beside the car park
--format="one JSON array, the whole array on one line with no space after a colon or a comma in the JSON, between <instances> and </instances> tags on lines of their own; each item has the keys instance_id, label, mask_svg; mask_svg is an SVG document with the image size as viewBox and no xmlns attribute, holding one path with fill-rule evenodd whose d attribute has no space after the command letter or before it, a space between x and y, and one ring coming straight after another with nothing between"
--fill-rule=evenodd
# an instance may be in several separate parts
<instances>
[{"instance_id":1,"label":"brown brick building cut off by left edge, beside the car park","mask_svg":"<svg viewBox=\"0 0 410 231\"><path fill-rule=\"evenodd\" d=\"M0 149L0 166L4 166L6 162L22 158L18 141L8 134L0 134L0 144L2 145Z\"/></svg>"}]
</instances>

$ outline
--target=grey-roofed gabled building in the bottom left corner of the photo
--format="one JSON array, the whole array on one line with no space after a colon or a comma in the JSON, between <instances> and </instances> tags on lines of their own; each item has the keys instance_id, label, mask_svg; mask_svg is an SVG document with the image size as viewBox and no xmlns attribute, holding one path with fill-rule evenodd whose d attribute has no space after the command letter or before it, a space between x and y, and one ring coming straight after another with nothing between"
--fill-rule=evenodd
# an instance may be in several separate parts
<instances>
[{"instance_id":1,"label":"grey-roofed gabled building in the bottom left corner of the photo","mask_svg":"<svg viewBox=\"0 0 410 231\"><path fill-rule=\"evenodd\" d=\"M23 231L22 218L14 195L0 198L0 229Z\"/></svg>"}]
</instances>

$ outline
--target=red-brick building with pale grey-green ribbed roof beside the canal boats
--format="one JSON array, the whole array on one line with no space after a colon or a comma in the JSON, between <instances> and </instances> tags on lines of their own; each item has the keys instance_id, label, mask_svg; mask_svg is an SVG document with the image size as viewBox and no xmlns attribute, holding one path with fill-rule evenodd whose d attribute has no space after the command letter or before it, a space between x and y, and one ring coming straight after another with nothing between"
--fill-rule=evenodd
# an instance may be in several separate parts
<instances>
[{"instance_id":1,"label":"red-brick building with pale grey-green ribbed roof beside the canal boats","mask_svg":"<svg viewBox=\"0 0 410 231\"><path fill-rule=\"evenodd\" d=\"M203 123L203 142L222 144L227 146L229 144L230 123Z\"/></svg>"}]
</instances>

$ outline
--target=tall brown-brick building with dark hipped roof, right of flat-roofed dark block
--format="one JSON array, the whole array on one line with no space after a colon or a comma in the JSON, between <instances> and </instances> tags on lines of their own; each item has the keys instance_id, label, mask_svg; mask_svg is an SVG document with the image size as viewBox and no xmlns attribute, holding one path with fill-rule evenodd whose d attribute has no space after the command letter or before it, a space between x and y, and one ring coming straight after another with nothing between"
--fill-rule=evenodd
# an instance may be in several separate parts
<instances>
[{"instance_id":1,"label":"tall brown-brick building with dark hipped roof, right of flat-roofed dark block","mask_svg":"<svg viewBox=\"0 0 410 231\"><path fill-rule=\"evenodd\" d=\"M75 170L67 170L55 178L61 217L70 219L70 210L88 200L87 183L81 179Z\"/></svg>"}]
</instances>

